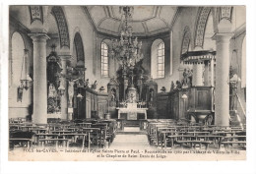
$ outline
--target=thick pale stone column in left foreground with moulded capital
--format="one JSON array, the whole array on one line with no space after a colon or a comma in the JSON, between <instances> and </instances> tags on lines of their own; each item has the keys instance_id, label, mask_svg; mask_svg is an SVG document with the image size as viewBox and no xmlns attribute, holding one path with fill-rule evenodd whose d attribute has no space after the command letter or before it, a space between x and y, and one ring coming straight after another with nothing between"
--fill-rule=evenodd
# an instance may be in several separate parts
<instances>
[{"instance_id":1,"label":"thick pale stone column in left foreground with moulded capital","mask_svg":"<svg viewBox=\"0 0 256 174\"><path fill-rule=\"evenodd\" d=\"M32 122L47 123L46 33L31 33L33 43Z\"/></svg>"}]
</instances>

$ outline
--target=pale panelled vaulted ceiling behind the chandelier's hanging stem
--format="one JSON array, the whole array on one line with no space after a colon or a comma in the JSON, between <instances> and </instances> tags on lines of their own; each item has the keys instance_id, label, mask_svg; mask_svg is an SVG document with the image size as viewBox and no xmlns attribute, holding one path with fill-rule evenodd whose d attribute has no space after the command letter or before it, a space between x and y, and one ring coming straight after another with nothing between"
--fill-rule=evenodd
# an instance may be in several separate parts
<instances>
[{"instance_id":1,"label":"pale panelled vaulted ceiling behind the chandelier's hanging stem","mask_svg":"<svg viewBox=\"0 0 256 174\"><path fill-rule=\"evenodd\" d=\"M84 6L97 31L118 35L121 27L119 6ZM173 25L178 8L174 6L134 6L130 22L134 35L153 35Z\"/></svg>"}]
</instances>

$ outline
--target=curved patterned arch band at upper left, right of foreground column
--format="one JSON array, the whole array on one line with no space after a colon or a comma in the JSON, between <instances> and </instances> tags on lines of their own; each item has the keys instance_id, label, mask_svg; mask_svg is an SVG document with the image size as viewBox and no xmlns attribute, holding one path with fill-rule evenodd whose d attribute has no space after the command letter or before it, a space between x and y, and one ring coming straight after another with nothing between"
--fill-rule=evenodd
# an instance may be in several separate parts
<instances>
[{"instance_id":1,"label":"curved patterned arch band at upper left, right of foreground column","mask_svg":"<svg viewBox=\"0 0 256 174\"><path fill-rule=\"evenodd\" d=\"M67 46L70 48L68 24L62 8L60 6L54 6L51 12L58 25L60 47L62 48L63 46Z\"/></svg>"}]
</instances>

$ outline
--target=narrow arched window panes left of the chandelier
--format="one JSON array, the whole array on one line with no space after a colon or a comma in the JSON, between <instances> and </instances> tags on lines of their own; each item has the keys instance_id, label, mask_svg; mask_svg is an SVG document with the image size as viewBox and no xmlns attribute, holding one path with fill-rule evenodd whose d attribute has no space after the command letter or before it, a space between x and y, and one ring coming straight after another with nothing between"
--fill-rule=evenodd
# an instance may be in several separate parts
<instances>
[{"instance_id":1,"label":"narrow arched window panes left of the chandelier","mask_svg":"<svg viewBox=\"0 0 256 174\"><path fill-rule=\"evenodd\" d=\"M108 77L108 46L101 42L101 77Z\"/></svg>"}]
</instances>

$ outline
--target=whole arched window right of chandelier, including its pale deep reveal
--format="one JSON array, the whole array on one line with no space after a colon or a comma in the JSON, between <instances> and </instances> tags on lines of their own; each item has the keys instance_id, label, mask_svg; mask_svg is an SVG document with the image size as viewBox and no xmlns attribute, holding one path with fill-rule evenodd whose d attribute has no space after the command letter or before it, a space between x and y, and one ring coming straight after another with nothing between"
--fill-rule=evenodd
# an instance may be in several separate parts
<instances>
[{"instance_id":1,"label":"whole arched window right of chandelier, including its pale deep reveal","mask_svg":"<svg viewBox=\"0 0 256 174\"><path fill-rule=\"evenodd\" d=\"M161 39L152 44L151 76L153 79L164 78L164 42Z\"/></svg>"}]
</instances>

